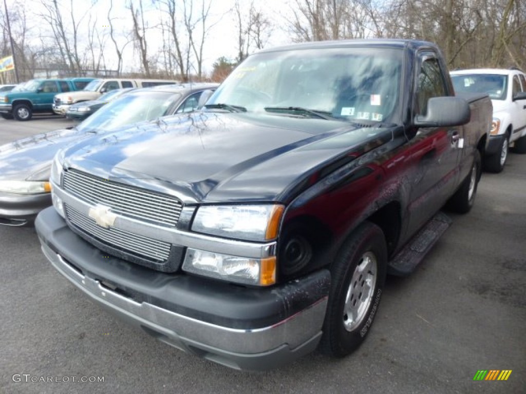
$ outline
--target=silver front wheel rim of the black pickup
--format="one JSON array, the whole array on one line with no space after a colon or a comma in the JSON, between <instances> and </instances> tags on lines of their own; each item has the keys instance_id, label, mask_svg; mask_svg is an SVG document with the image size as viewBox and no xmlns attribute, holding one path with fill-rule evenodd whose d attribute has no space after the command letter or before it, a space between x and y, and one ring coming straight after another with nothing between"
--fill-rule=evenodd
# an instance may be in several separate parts
<instances>
[{"instance_id":1,"label":"silver front wheel rim of the black pickup","mask_svg":"<svg viewBox=\"0 0 526 394\"><path fill-rule=\"evenodd\" d=\"M371 305L376 285L378 260L374 253L366 252L352 274L343 307L343 326L347 331L358 327Z\"/></svg>"}]
</instances>

